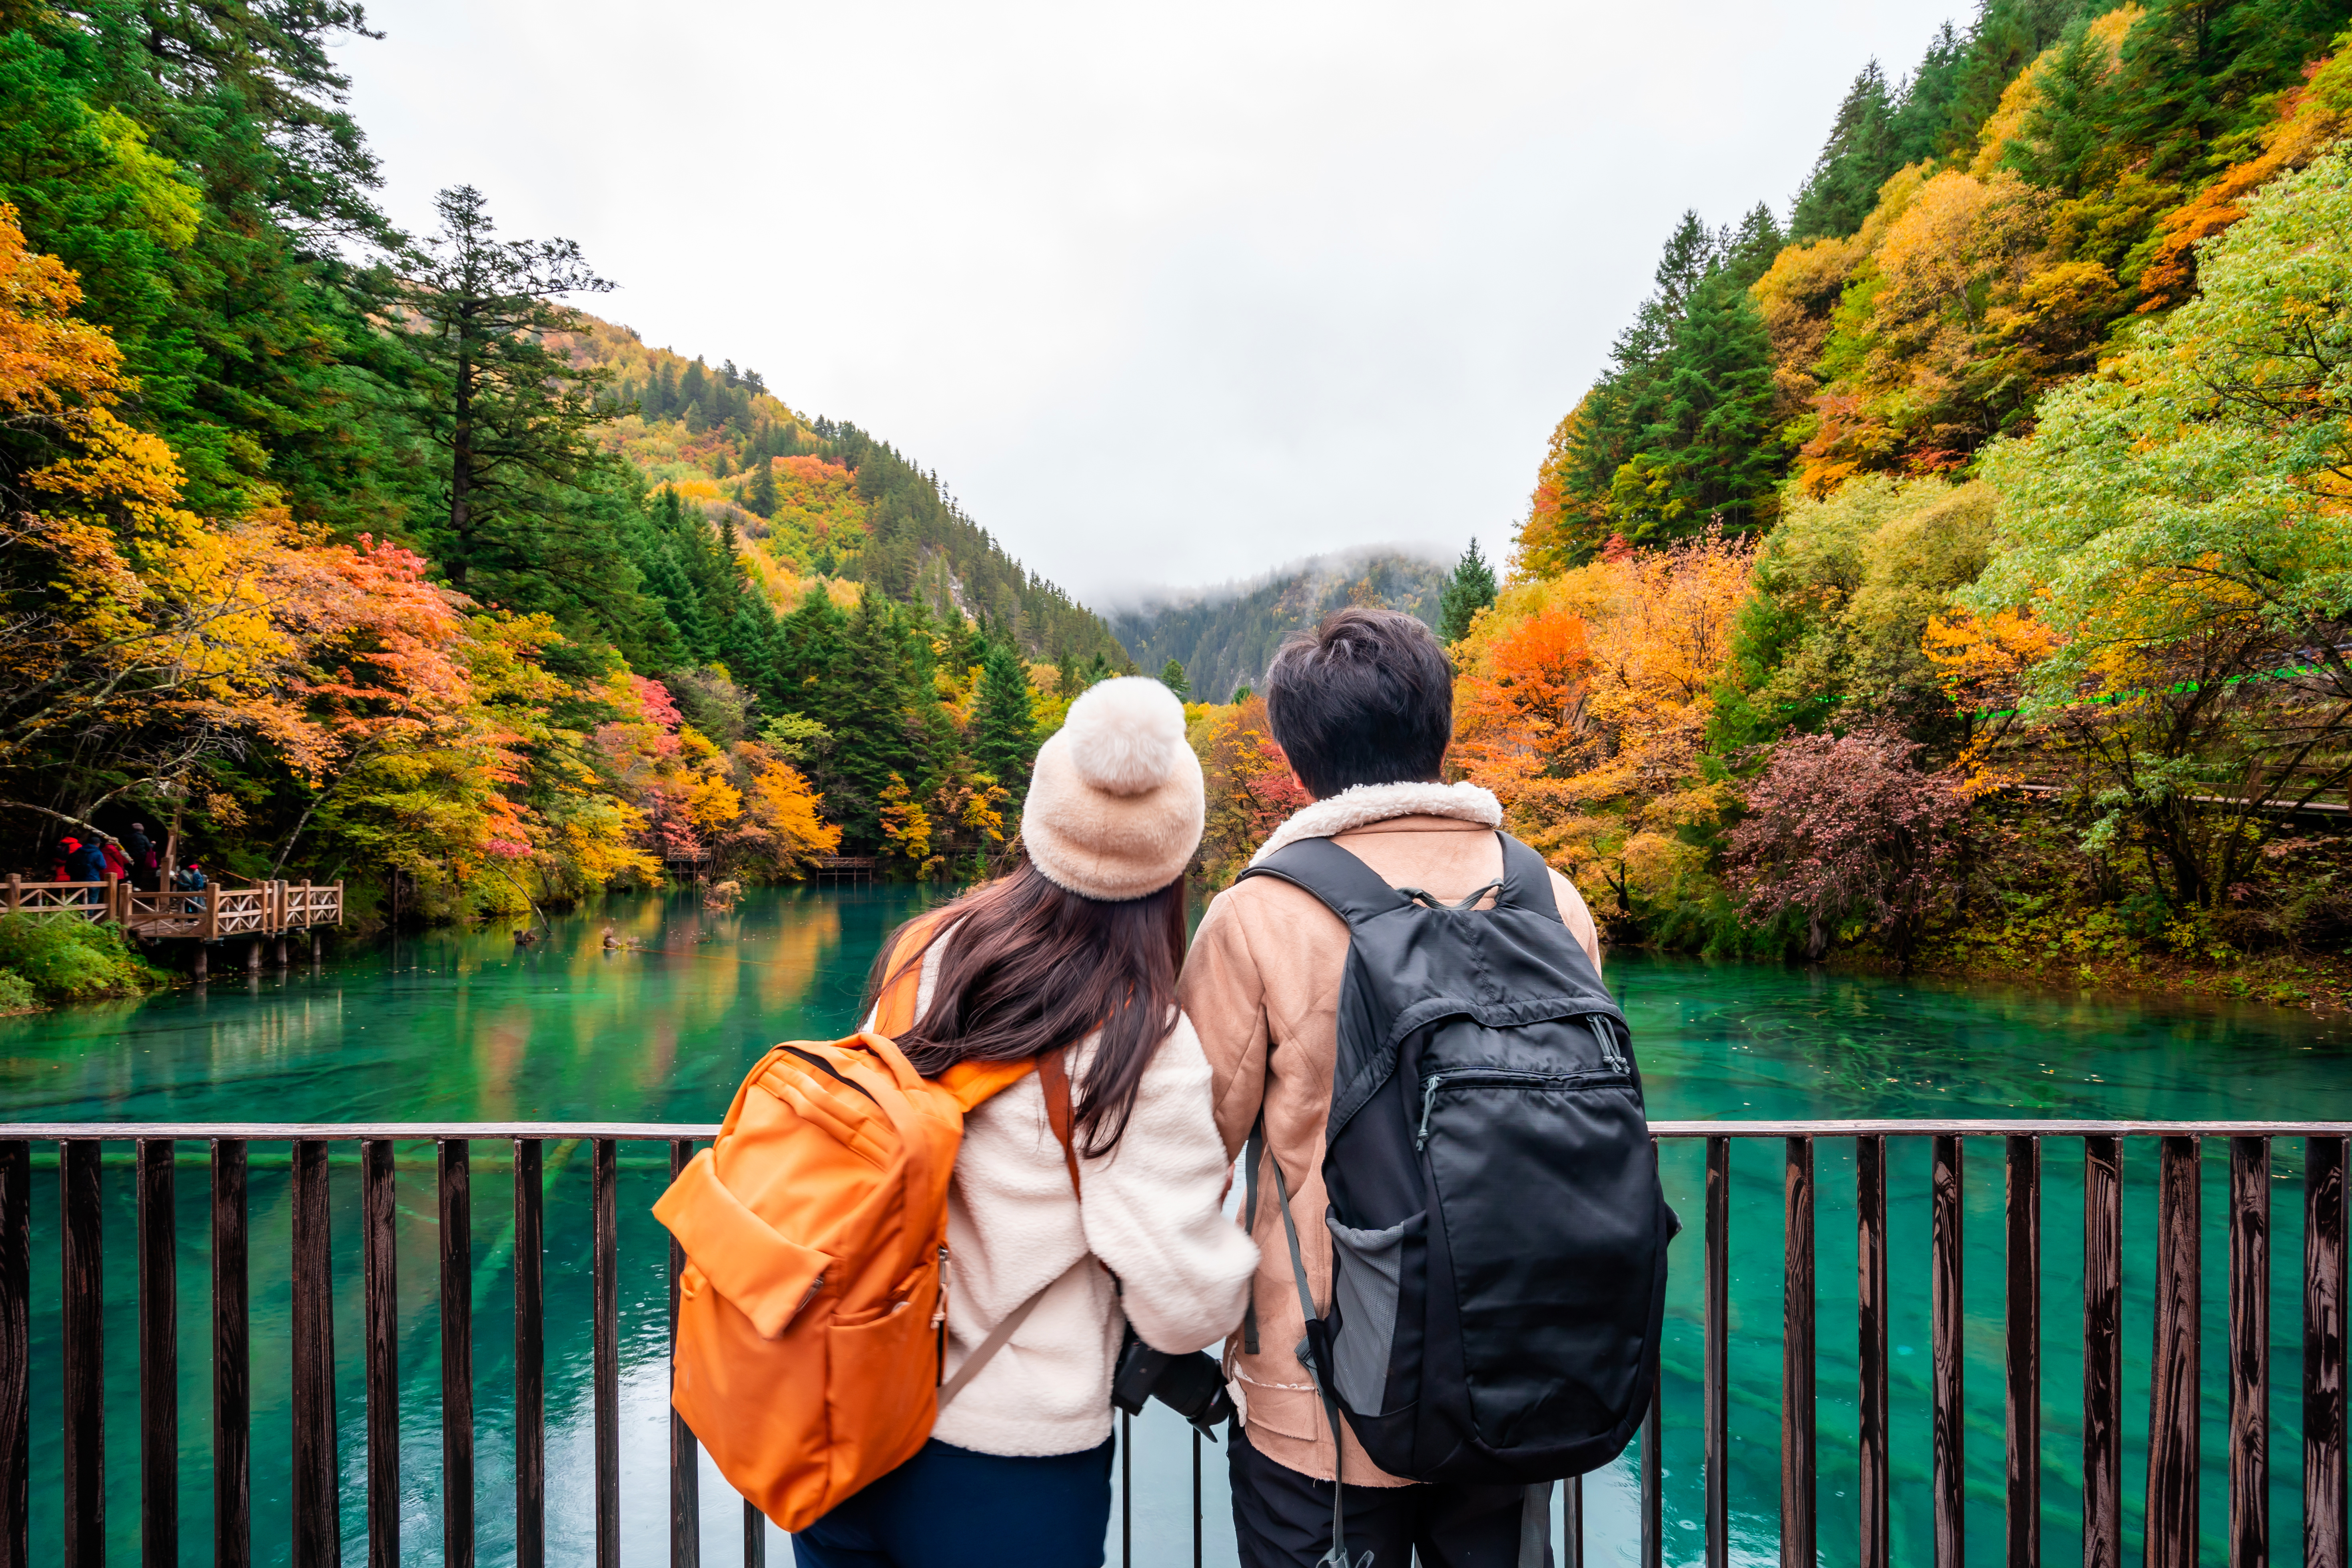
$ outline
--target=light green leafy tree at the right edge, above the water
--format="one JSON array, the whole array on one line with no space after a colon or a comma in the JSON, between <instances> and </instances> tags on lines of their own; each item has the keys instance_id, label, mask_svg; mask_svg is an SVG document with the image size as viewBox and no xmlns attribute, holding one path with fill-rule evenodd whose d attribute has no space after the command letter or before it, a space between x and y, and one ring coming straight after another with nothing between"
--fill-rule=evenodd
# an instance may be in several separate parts
<instances>
[{"instance_id":1,"label":"light green leafy tree at the right edge, above the water","mask_svg":"<svg viewBox=\"0 0 2352 1568\"><path fill-rule=\"evenodd\" d=\"M2046 628L2025 710L2093 842L2211 907L2258 863L2260 802L2352 778L2352 158L2267 186L2199 284L1987 449L2004 548L1962 602Z\"/></svg>"}]
</instances>

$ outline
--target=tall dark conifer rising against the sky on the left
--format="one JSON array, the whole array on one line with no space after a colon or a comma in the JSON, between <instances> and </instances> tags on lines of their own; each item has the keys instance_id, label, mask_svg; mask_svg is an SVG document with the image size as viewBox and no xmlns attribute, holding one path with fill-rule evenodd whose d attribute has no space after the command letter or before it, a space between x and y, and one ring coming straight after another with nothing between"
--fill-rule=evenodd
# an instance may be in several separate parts
<instances>
[{"instance_id":1,"label":"tall dark conifer rising against the sky on the left","mask_svg":"<svg viewBox=\"0 0 2352 1568\"><path fill-rule=\"evenodd\" d=\"M604 371L579 369L546 334L583 327L564 294L600 294L572 240L499 240L473 186L442 190L440 233L402 287L426 362L426 409L447 454L447 512L426 529L449 581L529 564L539 527L609 458L595 444Z\"/></svg>"}]
</instances>

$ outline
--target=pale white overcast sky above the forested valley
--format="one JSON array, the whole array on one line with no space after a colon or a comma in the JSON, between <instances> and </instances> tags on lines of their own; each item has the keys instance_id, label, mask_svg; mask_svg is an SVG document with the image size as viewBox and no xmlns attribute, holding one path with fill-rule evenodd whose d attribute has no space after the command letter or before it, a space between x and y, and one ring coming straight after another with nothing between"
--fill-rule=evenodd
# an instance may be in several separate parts
<instances>
[{"instance_id":1,"label":"pale white overcast sky above the forested valley","mask_svg":"<svg viewBox=\"0 0 2352 1568\"><path fill-rule=\"evenodd\" d=\"M1684 207L1785 216L1959 0L381 0L383 205L936 468L1101 604L1508 548ZM1964 16L1959 16L1964 19Z\"/></svg>"}]
</instances>

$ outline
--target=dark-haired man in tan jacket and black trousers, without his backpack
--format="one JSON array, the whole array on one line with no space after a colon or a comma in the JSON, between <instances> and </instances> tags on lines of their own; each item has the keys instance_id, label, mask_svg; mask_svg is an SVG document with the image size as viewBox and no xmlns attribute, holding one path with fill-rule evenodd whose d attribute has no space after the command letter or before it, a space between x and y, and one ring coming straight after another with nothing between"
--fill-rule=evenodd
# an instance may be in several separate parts
<instances>
[{"instance_id":1,"label":"dark-haired man in tan jacket and black trousers, without his backpack","mask_svg":"<svg viewBox=\"0 0 2352 1568\"><path fill-rule=\"evenodd\" d=\"M1503 875L1503 811L1477 785L1439 783L1454 733L1454 672L1421 621L1341 609L1291 637L1265 677L1275 741L1312 804L1258 851L1334 839L1390 886L1458 903ZM1562 922L1599 966L1599 936L1573 884L1552 872ZM1479 905L1491 903L1491 896ZM1185 959L1178 999L1209 1056L1216 1124L1237 1154L1265 1117L1315 1300L1331 1293L1324 1229L1324 1119L1338 1048L1348 924L1312 893L1249 877L1216 896ZM1334 1434L1296 1345L1305 1331L1270 1171L1258 1171L1256 1347L1235 1335L1225 1368L1240 1406L1230 1446L1242 1568L1312 1568L1331 1547L1334 1460L1348 1552L1371 1568L1517 1568L1545 1559L1548 1488L1409 1483L1383 1474L1352 1432ZM1536 1519L1536 1512L1543 1519Z\"/></svg>"}]
</instances>

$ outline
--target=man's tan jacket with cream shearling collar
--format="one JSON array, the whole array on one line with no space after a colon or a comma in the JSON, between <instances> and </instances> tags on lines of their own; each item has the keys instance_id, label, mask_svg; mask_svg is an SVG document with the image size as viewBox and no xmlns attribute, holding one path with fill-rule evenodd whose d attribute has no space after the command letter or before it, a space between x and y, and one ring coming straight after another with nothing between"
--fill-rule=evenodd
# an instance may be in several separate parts
<instances>
[{"instance_id":1,"label":"man's tan jacket with cream shearling collar","mask_svg":"<svg viewBox=\"0 0 2352 1568\"><path fill-rule=\"evenodd\" d=\"M1456 903L1503 875L1501 818L1494 795L1477 785L1359 785L1294 813L1258 856L1296 839L1329 837L1390 886L1418 886ZM1592 912L1559 872L1552 872L1552 898L1599 966ZM1343 919L1303 889L1251 877L1209 903L1178 985L1178 1001L1209 1058L1216 1128L1228 1157L1240 1154L1261 1107L1265 1112L1265 1152L1270 1161L1282 1161L1317 1302L1331 1293L1322 1150L1345 964ZM1258 1171L1254 1229L1258 1354L1247 1354L1242 1335L1232 1335L1225 1375L1251 1446L1277 1465L1329 1481L1331 1434L1315 1385L1294 1354L1305 1321L1270 1171ZM1343 1441L1341 1479L1350 1486L1404 1486L1364 1458L1352 1432Z\"/></svg>"}]
</instances>

